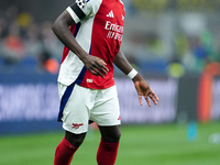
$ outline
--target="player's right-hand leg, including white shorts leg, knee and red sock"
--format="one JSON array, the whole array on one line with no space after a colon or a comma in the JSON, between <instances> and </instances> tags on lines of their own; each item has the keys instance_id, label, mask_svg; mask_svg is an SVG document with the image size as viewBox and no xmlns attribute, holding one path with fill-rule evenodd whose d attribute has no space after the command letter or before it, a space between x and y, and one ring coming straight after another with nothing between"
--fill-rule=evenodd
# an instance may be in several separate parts
<instances>
[{"instance_id":1,"label":"player's right-hand leg, including white shorts leg, knee and red sock","mask_svg":"<svg viewBox=\"0 0 220 165\"><path fill-rule=\"evenodd\" d=\"M101 141L97 152L98 165L113 165L118 155L120 132L120 110L116 86L99 90L90 119L100 130Z\"/></svg>"}]
</instances>

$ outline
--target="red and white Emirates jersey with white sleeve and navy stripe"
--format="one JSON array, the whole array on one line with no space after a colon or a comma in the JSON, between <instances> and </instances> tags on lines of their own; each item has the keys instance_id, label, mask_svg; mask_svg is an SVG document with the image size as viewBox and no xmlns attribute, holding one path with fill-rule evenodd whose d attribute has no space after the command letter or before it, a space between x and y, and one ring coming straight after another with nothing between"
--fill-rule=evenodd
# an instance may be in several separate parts
<instances>
[{"instance_id":1,"label":"red and white Emirates jersey with white sleeve and navy stripe","mask_svg":"<svg viewBox=\"0 0 220 165\"><path fill-rule=\"evenodd\" d=\"M105 78L92 75L78 56L65 47L58 81L67 86L77 82L91 89L113 86L113 59L123 35L123 3L120 0L77 0L67 11L76 22L70 26L76 41L90 55L103 59L109 72Z\"/></svg>"}]
</instances>

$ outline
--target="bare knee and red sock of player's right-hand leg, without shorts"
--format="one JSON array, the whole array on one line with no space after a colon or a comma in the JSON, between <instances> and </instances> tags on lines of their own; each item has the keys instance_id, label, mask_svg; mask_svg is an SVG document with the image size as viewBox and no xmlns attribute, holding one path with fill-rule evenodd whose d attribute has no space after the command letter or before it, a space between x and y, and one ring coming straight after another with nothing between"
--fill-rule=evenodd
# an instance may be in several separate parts
<instances>
[{"instance_id":1,"label":"bare knee and red sock of player's right-hand leg, without shorts","mask_svg":"<svg viewBox=\"0 0 220 165\"><path fill-rule=\"evenodd\" d=\"M101 141L97 152L97 163L98 165L114 165L121 136L119 125L99 127L99 130Z\"/></svg>"}]
</instances>

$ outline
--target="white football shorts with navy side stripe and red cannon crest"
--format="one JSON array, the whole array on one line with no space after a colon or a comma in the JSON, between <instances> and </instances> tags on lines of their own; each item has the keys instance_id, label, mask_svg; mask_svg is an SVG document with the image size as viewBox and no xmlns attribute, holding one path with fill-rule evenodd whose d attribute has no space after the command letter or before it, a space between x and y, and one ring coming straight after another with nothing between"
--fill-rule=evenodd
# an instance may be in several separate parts
<instances>
[{"instance_id":1,"label":"white football shorts with navy side stripe and red cannon crest","mask_svg":"<svg viewBox=\"0 0 220 165\"><path fill-rule=\"evenodd\" d=\"M64 130L76 134L87 132L89 120L101 127L121 124L116 85L107 89L90 89L58 82L58 121L63 121Z\"/></svg>"}]
</instances>

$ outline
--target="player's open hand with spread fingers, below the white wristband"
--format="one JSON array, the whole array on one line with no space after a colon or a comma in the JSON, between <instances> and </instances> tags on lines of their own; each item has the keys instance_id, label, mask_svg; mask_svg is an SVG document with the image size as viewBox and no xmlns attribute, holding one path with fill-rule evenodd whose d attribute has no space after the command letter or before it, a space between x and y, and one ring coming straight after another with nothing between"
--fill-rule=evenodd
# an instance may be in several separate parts
<instances>
[{"instance_id":1,"label":"player's open hand with spread fingers, below the white wristband","mask_svg":"<svg viewBox=\"0 0 220 165\"><path fill-rule=\"evenodd\" d=\"M134 86L135 86L135 89L138 91L139 102L140 102L141 106L143 106L142 97L145 98L148 107L152 106L151 102L150 102L150 99L154 102L154 105L157 105L158 97L151 89L148 82L146 82L144 79L139 79L139 80L134 80Z\"/></svg>"}]
</instances>

